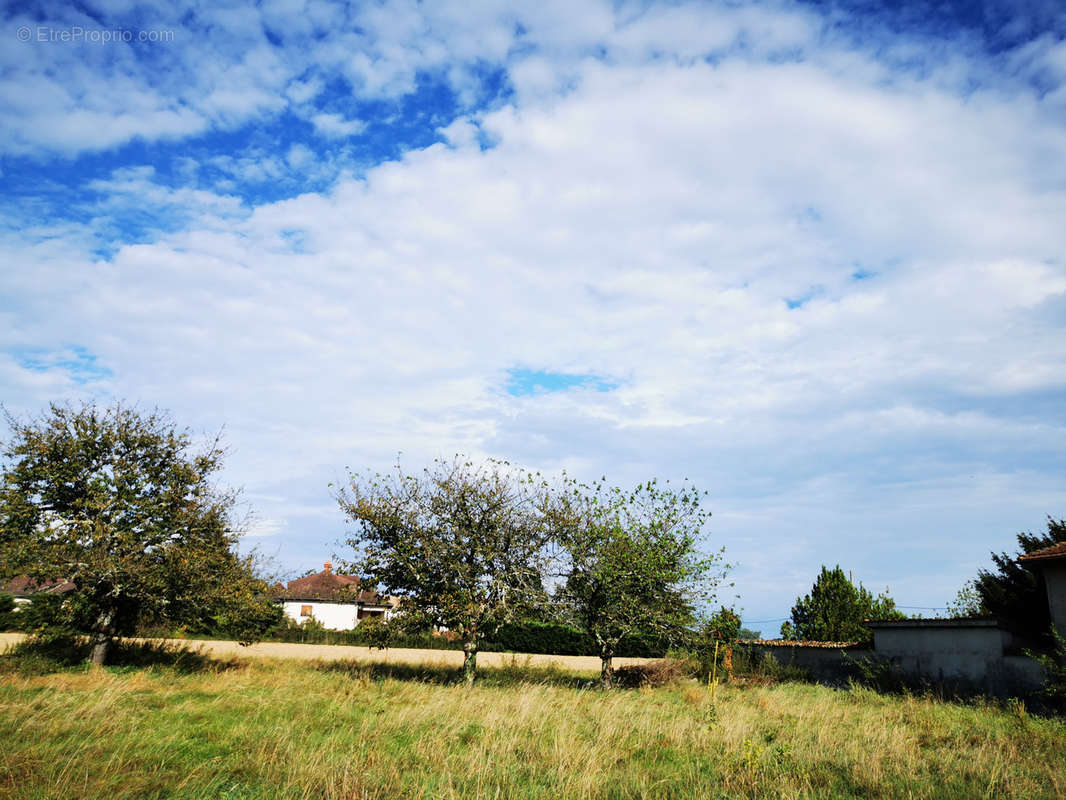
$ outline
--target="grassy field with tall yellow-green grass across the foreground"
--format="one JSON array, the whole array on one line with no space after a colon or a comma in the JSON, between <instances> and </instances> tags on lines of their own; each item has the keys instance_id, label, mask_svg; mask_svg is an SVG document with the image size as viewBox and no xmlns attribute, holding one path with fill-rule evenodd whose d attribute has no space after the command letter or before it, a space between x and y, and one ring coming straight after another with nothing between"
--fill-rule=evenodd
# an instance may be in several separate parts
<instances>
[{"instance_id":1,"label":"grassy field with tall yellow-green grass across the foreground","mask_svg":"<svg viewBox=\"0 0 1066 800\"><path fill-rule=\"evenodd\" d=\"M0 659L4 660L4 659ZM390 675L391 673L391 675ZM1053 798L1066 726L805 684L614 690L513 665L0 670L0 797Z\"/></svg>"}]
</instances>

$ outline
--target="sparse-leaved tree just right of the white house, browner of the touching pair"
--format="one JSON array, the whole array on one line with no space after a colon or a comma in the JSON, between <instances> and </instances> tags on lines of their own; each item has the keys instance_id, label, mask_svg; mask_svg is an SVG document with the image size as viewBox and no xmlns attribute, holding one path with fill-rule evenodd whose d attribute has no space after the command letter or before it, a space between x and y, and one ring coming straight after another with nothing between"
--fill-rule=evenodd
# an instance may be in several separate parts
<instances>
[{"instance_id":1,"label":"sparse-leaved tree just right of the white house, browner of the touching pair","mask_svg":"<svg viewBox=\"0 0 1066 800\"><path fill-rule=\"evenodd\" d=\"M346 569L402 597L413 622L455 631L472 683L485 639L546 598L545 486L505 462L459 458L421 476L399 464L390 477L350 475L337 497L355 526Z\"/></svg>"}]
</instances>

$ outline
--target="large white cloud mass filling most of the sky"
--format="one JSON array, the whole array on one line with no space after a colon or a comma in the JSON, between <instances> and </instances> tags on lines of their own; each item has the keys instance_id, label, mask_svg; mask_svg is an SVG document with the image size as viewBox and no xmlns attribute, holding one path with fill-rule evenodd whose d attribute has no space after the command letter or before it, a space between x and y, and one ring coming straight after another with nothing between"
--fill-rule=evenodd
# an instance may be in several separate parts
<instances>
[{"instance_id":1,"label":"large white cloud mass filling most of the sky","mask_svg":"<svg viewBox=\"0 0 1066 800\"><path fill-rule=\"evenodd\" d=\"M366 91L487 52L513 102L254 209L150 171L97 181L101 215L190 221L110 261L75 228L10 235L5 345L84 347L114 373L101 390L225 422L227 475L307 565L343 531L326 483L398 450L692 477L753 614L837 561L901 602L947 602L988 549L1061 513L1066 430L1041 403L1066 391L1066 137L1048 96L1004 91L966 53L894 70L795 10L592 5L568 23L567 7L523 18L543 45L528 55L505 11L368 13ZM450 38L486 18L477 43ZM254 37L245 16L217 23ZM323 68L356 68L343 42L323 43ZM803 59L777 58L790 49ZM199 118L288 92L320 129L361 124L314 111L324 84L288 51L242 63L225 91L247 103L211 94L215 70ZM958 92L960 68L984 89ZM320 160L287 142L205 163L247 182L318 178ZM516 365L619 387L515 398ZM16 410L69 390L0 370Z\"/></svg>"}]
</instances>

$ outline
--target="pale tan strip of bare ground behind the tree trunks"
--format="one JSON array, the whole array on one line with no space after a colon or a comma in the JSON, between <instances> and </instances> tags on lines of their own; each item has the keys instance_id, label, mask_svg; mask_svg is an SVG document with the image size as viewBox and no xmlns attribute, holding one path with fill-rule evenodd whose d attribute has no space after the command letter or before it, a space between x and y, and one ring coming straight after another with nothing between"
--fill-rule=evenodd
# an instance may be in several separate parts
<instances>
[{"instance_id":1,"label":"pale tan strip of bare ground behind the tree trunks","mask_svg":"<svg viewBox=\"0 0 1066 800\"><path fill-rule=\"evenodd\" d=\"M22 634L0 634L0 653L26 637ZM243 658L301 658L304 660L319 659L322 661L340 661L355 659L359 661L381 661L388 663L435 663L449 667L459 667L463 654L455 650L408 650L394 647L388 651L371 647L355 647L345 644L290 644L287 642L259 642L248 647L242 647L237 642L212 641L205 639L165 639L163 641L184 645L191 650L200 650L211 656L240 656ZM527 653L479 653L479 667L501 667L511 663L512 659L522 666L547 667L555 665L561 669L575 672L599 672L599 658L595 656L548 656ZM646 663L653 658L615 658L614 666L623 667L630 663Z\"/></svg>"}]
</instances>

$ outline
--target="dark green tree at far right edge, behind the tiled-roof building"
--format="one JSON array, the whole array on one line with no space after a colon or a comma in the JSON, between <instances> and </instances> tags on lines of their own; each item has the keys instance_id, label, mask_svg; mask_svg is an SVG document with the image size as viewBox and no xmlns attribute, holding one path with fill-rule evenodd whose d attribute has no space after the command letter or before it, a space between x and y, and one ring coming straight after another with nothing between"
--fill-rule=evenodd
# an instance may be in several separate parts
<instances>
[{"instance_id":1,"label":"dark green tree at far right edge, behind the tiled-roof building","mask_svg":"<svg viewBox=\"0 0 1066 800\"><path fill-rule=\"evenodd\" d=\"M992 554L995 571L982 570L974 580L981 609L1010 630L1041 647L1050 649L1051 615L1041 579L1018 561L1019 556L1066 542L1066 521L1048 517L1048 532L1018 534L1018 554Z\"/></svg>"}]
</instances>

